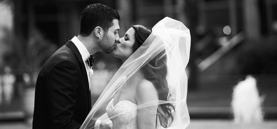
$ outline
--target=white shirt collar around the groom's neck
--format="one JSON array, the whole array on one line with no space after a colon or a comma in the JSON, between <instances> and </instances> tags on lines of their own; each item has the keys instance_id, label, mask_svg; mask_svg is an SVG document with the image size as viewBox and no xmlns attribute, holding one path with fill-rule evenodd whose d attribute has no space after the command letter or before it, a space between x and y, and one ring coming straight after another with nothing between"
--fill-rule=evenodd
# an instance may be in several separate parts
<instances>
[{"instance_id":1,"label":"white shirt collar around the groom's neck","mask_svg":"<svg viewBox=\"0 0 277 129\"><path fill-rule=\"evenodd\" d=\"M86 47L84 46L84 44L76 37L74 36L71 41L75 44L75 46L78 48L83 61L86 61L87 58L89 57L89 52L86 49Z\"/></svg>"}]
</instances>

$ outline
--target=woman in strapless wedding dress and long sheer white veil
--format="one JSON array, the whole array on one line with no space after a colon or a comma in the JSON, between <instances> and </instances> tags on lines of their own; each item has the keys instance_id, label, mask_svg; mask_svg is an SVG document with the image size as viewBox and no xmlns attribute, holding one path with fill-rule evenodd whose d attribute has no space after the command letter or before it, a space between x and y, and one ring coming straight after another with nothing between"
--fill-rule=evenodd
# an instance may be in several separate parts
<instances>
[{"instance_id":1,"label":"woman in strapless wedding dress and long sheer white veil","mask_svg":"<svg viewBox=\"0 0 277 129\"><path fill-rule=\"evenodd\" d=\"M123 65L81 126L92 118L111 121L113 129L186 128L190 33L183 23L164 18L152 31L132 26L113 52Z\"/></svg>"}]
</instances>

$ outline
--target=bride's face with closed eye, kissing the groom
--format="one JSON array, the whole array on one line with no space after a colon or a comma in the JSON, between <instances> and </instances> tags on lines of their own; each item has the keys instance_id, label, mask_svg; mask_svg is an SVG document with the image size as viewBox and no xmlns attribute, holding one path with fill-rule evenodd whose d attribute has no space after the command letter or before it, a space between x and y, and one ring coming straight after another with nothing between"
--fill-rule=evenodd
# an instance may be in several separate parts
<instances>
[{"instance_id":1,"label":"bride's face with closed eye, kissing the groom","mask_svg":"<svg viewBox=\"0 0 277 129\"><path fill-rule=\"evenodd\" d=\"M135 30L134 28L130 28L125 36L120 38L116 47L114 48L114 52L112 53L115 57L118 57L122 60L128 59L133 53L133 45L135 43Z\"/></svg>"}]
</instances>

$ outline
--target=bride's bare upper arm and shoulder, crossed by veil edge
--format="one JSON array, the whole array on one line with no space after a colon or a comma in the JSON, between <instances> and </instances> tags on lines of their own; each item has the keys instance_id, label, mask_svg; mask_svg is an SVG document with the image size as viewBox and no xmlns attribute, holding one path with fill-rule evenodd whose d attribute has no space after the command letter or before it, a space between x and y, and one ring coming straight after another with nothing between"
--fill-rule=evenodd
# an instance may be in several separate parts
<instances>
[{"instance_id":1,"label":"bride's bare upper arm and shoulder, crossed by veil edge","mask_svg":"<svg viewBox=\"0 0 277 129\"><path fill-rule=\"evenodd\" d=\"M155 89L152 82L143 80L137 86L135 101L137 102L137 105L140 105L152 100L158 100L157 90ZM153 105L154 106L137 109L138 129L155 128L158 103Z\"/></svg>"}]
</instances>

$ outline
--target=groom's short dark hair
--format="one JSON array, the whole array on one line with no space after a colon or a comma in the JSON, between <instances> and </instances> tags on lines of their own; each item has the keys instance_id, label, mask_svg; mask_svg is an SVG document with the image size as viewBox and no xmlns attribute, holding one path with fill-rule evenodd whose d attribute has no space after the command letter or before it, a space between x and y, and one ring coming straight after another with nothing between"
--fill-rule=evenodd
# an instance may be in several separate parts
<instances>
[{"instance_id":1,"label":"groom's short dark hair","mask_svg":"<svg viewBox=\"0 0 277 129\"><path fill-rule=\"evenodd\" d=\"M91 4L81 14L79 35L89 36L97 26L102 27L104 32L107 32L113 26L114 19L120 19L117 10L104 4Z\"/></svg>"}]
</instances>

